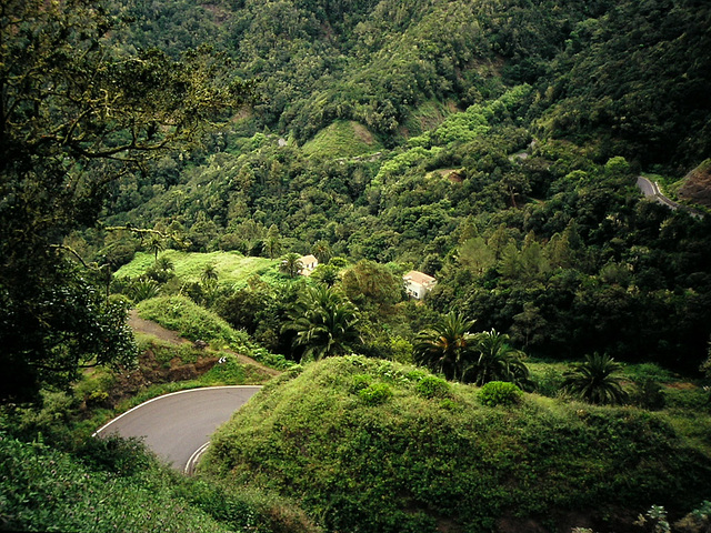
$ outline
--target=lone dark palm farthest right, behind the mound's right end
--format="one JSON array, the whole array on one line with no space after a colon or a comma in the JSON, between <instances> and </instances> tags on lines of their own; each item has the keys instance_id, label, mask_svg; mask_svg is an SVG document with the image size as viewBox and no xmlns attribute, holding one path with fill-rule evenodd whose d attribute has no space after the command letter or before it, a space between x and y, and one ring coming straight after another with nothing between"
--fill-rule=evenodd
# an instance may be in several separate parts
<instances>
[{"instance_id":1,"label":"lone dark palm farthest right, behind the mound's right end","mask_svg":"<svg viewBox=\"0 0 711 533\"><path fill-rule=\"evenodd\" d=\"M584 362L564 374L563 389L590 403L624 403L628 395L621 378L613 375L620 369L620 363L608 354L585 355Z\"/></svg>"}]
</instances>

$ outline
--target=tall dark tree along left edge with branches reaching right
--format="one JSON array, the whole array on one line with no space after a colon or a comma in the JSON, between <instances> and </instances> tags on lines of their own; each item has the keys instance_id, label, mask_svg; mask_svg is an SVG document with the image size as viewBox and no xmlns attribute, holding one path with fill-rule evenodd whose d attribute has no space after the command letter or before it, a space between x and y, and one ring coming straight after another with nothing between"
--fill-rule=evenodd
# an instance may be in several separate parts
<instances>
[{"instance_id":1,"label":"tall dark tree along left edge with branches reaching right","mask_svg":"<svg viewBox=\"0 0 711 533\"><path fill-rule=\"evenodd\" d=\"M133 354L126 311L94 299L63 253L112 182L184 147L247 87L207 50L129 53L101 2L0 9L0 401Z\"/></svg>"}]
</instances>

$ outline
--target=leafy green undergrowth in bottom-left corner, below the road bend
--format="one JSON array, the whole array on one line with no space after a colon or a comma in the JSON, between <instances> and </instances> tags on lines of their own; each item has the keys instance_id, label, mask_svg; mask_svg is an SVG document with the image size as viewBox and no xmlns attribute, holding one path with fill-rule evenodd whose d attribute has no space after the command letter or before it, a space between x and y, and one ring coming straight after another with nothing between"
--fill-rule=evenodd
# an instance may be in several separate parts
<instances>
[{"instance_id":1,"label":"leafy green undergrowth in bottom-left corner, below the road bend","mask_svg":"<svg viewBox=\"0 0 711 533\"><path fill-rule=\"evenodd\" d=\"M62 414L41 425L44 434L67 424ZM61 449L42 433L10 430L11 420L0 419L3 530L319 531L293 502L178 475L138 440L88 438Z\"/></svg>"}]
</instances>

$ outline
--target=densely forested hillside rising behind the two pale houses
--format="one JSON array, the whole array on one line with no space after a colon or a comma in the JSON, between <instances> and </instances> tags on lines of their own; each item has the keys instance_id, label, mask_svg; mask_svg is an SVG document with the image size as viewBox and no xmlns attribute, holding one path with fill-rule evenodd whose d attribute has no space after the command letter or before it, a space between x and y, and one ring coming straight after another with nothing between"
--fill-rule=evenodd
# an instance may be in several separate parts
<instances>
[{"instance_id":1,"label":"densely forested hillside rising behind the two pale houses","mask_svg":"<svg viewBox=\"0 0 711 533\"><path fill-rule=\"evenodd\" d=\"M435 313L540 356L597 350L690 372L705 358L709 219L635 187L653 172L689 201L681 180L708 158L705 6L160 7L122 8L136 47L178 56L192 41L176 36L210 36L257 97L206 148L117 182L110 224L196 252L414 268L439 280ZM147 245L126 231L74 239L111 268ZM269 348L287 352L273 331Z\"/></svg>"}]
</instances>

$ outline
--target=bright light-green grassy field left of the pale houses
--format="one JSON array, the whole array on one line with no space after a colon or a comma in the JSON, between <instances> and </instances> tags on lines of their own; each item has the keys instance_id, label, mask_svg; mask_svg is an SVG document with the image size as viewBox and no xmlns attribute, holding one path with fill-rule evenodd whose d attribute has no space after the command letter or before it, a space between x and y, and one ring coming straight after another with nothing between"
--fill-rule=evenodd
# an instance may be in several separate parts
<instances>
[{"instance_id":1,"label":"bright light-green grassy field left of the pale houses","mask_svg":"<svg viewBox=\"0 0 711 533\"><path fill-rule=\"evenodd\" d=\"M220 283L243 283L253 274L261 274L276 269L277 262L267 258L246 258L239 252L190 253L178 250L167 250L160 258L169 259L176 266L176 275L186 282L200 281L200 274L208 264L214 264ZM121 266L117 278L137 278L153 264L152 253L139 252L133 261Z\"/></svg>"}]
</instances>

